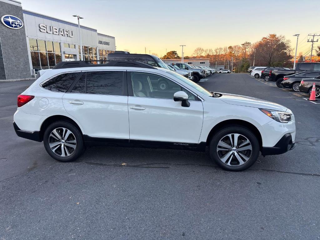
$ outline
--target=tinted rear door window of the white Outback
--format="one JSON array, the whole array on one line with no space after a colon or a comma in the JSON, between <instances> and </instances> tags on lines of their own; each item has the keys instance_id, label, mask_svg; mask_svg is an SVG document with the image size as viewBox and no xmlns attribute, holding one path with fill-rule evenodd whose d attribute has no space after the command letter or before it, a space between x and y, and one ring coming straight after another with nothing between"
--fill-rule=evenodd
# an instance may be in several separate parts
<instances>
[{"instance_id":1,"label":"tinted rear door window of the white Outback","mask_svg":"<svg viewBox=\"0 0 320 240\"><path fill-rule=\"evenodd\" d=\"M98 71L83 74L72 91L101 95L123 95L122 71Z\"/></svg>"}]
</instances>

